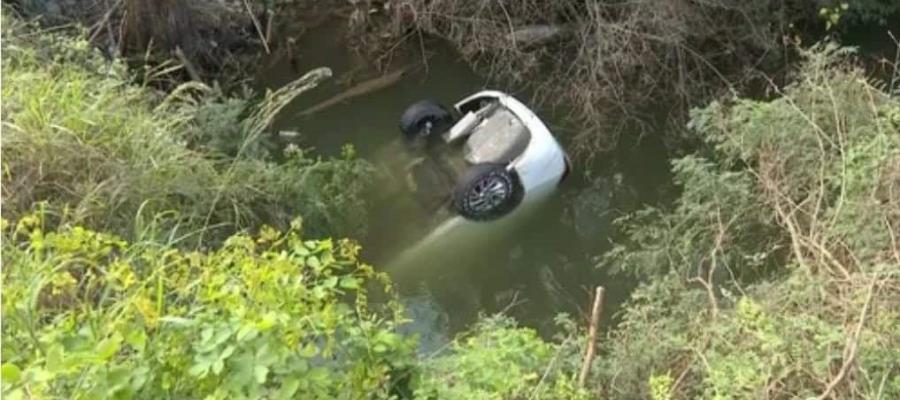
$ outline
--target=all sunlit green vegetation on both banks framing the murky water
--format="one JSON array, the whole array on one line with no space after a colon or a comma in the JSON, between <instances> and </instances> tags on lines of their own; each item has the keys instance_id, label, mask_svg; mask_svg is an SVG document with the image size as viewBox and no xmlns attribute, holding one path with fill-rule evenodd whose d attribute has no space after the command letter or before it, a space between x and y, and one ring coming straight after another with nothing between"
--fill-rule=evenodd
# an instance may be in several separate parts
<instances>
[{"instance_id":1,"label":"all sunlit green vegetation on both banks framing the murky water","mask_svg":"<svg viewBox=\"0 0 900 400\"><path fill-rule=\"evenodd\" d=\"M601 262L642 283L579 387L565 318L552 340L486 318L426 355L398 333L389 280L328 239L364 231L369 167L267 145L327 71L163 95L4 18L2 394L900 398L900 98L846 49L803 57L772 99L692 112L678 200L620 219Z\"/></svg>"}]
</instances>

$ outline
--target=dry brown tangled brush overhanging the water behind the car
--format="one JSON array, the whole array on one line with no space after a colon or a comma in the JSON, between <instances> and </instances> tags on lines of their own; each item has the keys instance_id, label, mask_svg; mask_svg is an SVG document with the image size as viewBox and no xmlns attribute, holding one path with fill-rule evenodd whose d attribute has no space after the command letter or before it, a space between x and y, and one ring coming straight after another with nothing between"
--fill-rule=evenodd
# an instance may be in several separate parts
<instances>
[{"instance_id":1,"label":"dry brown tangled brush overhanging the water behind the car","mask_svg":"<svg viewBox=\"0 0 900 400\"><path fill-rule=\"evenodd\" d=\"M573 130L570 150L589 159L622 132L645 132L644 121L682 123L689 107L757 78L757 67L781 55L788 8L737 0L408 0L392 15L397 32L414 27L445 38L476 71L554 107Z\"/></svg>"}]
</instances>

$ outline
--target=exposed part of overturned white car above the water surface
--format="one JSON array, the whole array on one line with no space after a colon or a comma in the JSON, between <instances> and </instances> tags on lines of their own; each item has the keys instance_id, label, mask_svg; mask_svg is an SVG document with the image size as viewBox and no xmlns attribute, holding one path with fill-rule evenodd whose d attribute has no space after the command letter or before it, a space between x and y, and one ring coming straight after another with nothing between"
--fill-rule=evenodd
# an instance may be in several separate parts
<instances>
[{"instance_id":1,"label":"exposed part of overturned white car above the water surface","mask_svg":"<svg viewBox=\"0 0 900 400\"><path fill-rule=\"evenodd\" d=\"M549 197L570 169L543 121L498 91L475 93L453 111L417 102L401 116L400 130L418 155L407 167L416 197L465 220L506 219Z\"/></svg>"}]
</instances>

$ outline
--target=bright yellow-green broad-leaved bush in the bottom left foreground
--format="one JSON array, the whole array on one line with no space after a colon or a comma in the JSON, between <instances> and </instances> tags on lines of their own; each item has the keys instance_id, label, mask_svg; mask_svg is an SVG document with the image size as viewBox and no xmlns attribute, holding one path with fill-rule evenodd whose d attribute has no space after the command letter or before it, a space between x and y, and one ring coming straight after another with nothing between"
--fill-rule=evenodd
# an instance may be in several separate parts
<instances>
[{"instance_id":1,"label":"bright yellow-green broad-leaved bush in the bottom left foreground","mask_svg":"<svg viewBox=\"0 0 900 400\"><path fill-rule=\"evenodd\" d=\"M412 361L350 241L184 252L42 225L4 227L4 398L386 398Z\"/></svg>"}]
</instances>

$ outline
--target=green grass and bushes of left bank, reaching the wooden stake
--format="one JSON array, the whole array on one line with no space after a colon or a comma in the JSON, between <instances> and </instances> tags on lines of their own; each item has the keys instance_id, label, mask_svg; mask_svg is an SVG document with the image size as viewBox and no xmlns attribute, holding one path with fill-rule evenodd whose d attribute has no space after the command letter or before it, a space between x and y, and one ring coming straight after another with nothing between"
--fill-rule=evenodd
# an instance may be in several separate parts
<instances>
[{"instance_id":1,"label":"green grass and bushes of left bank, reaching the wooden stake","mask_svg":"<svg viewBox=\"0 0 900 400\"><path fill-rule=\"evenodd\" d=\"M502 318L415 356L359 246L307 239L360 234L368 171L349 148L271 161L262 132L309 76L257 105L196 84L161 96L83 39L7 21L4 398L581 393L546 365L573 340Z\"/></svg>"}]
</instances>

